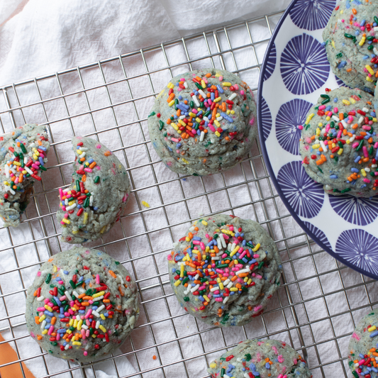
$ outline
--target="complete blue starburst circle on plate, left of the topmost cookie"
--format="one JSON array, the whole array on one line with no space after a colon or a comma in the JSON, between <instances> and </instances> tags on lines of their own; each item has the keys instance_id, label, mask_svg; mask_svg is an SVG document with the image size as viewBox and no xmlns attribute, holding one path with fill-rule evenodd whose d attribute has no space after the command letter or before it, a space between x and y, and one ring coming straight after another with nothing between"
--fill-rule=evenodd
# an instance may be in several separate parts
<instances>
[{"instance_id":1,"label":"complete blue starburst circle on plate, left of the topmost cookie","mask_svg":"<svg viewBox=\"0 0 378 378\"><path fill-rule=\"evenodd\" d=\"M326 50L311 35L291 38L281 55L281 76L293 94L309 94L328 79L330 65Z\"/></svg>"}]
</instances>

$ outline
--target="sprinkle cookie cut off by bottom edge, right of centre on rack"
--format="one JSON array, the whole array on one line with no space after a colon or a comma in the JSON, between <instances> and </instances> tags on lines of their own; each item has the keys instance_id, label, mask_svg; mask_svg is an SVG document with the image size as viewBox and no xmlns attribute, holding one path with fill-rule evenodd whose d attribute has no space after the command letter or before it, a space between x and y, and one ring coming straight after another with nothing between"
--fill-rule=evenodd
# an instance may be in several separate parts
<instances>
[{"instance_id":1,"label":"sprinkle cookie cut off by bottom edge, right of centre on rack","mask_svg":"<svg viewBox=\"0 0 378 378\"><path fill-rule=\"evenodd\" d=\"M306 362L278 340L245 340L211 362L212 378L311 378Z\"/></svg>"}]
</instances>

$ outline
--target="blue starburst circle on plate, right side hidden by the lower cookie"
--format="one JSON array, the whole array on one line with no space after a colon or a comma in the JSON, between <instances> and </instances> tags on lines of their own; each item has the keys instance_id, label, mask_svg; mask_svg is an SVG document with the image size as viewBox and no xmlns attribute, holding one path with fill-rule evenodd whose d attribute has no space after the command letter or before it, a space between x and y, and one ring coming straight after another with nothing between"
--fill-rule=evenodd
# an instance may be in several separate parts
<instances>
[{"instance_id":1,"label":"blue starburst circle on plate, right side hidden by the lower cookie","mask_svg":"<svg viewBox=\"0 0 378 378\"><path fill-rule=\"evenodd\" d=\"M306 100L294 99L285 102L279 108L276 117L276 137L281 147L291 154L299 155L298 140L301 138L301 130L298 126L306 121L311 106L312 104Z\"/></svg>"}]
</instances>

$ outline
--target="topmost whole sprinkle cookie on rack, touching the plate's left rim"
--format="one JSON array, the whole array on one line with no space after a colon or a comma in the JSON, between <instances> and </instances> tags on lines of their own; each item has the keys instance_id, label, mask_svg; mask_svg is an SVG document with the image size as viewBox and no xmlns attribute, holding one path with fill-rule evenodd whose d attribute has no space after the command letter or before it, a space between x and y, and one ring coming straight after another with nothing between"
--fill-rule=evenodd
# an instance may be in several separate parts
<instances>
[{"instance_id":1,"label":"topmost whole sprinkle cookie on rack, touching the plate's left rim","mask_svg":"<svg viewBox=\"0 0 378 378\"><path fill-rule=\"evenodd\" d=\"M171 79L155 100L148 130L162 162L204 176L235 166L257 135L252 91L235 74L204 69Z\"/></svg>"}]
</instances>

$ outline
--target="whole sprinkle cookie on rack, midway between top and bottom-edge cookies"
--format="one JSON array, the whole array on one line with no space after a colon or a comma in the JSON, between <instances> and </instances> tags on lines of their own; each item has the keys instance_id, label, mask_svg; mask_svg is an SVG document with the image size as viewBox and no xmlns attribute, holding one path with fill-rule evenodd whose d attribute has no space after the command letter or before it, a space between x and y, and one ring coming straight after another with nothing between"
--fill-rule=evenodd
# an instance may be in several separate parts
<instances>
[{"instance_id":1,"label":"whole sprinkle cookie on rack, midway between top and bottom-edge cookies","mask_svg":"<svg viewBox=\"0 0 378 378\"><path fill-rule=\"evenodd\" d=\"M281 260L259 223L215 215L194 222L168 255L179 304L206 323L243 326L279 287Z\"/></svg>"}]
</instances>

